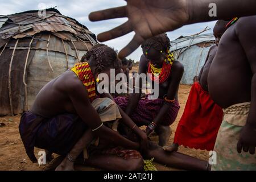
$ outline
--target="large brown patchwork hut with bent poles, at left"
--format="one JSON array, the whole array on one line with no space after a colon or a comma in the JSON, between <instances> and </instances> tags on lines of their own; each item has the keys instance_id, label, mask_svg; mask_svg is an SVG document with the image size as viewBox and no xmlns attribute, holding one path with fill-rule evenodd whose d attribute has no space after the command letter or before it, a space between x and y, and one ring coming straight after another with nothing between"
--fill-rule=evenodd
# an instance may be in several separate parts
<instances>
[{"instance_id":1,"label":"large brown patchwork hut with bent poles, at left","mask_svg":"<svg viewBox=\"0 0 256 182\"><path fill-rule=\"evenodd\" d=\"M97 44L96 36L56 9L0 16L0 115L28 110L36 94Z\"/></svg>"}]
</instances>

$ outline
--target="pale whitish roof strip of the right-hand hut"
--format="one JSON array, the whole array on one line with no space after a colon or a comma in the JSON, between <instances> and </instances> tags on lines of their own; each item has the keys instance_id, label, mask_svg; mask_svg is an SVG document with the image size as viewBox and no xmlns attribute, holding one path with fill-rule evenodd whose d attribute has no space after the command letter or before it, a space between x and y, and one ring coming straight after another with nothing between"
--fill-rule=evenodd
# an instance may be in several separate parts
<instances>
[{"instance_id":1,"label":"pale whitish roof strip of the right-hand hut","mask_svg":"<svg viewBox=\"0 0 256 182\"><path fill-rule=\"evenodd\" d=\"M181 49L184 47L193 46L202 42L214 42L215 37L213 34L202 34L195 36L187 36L185 38L176 39L171 41L171 51Z\"/></svg>"}]
</instances>

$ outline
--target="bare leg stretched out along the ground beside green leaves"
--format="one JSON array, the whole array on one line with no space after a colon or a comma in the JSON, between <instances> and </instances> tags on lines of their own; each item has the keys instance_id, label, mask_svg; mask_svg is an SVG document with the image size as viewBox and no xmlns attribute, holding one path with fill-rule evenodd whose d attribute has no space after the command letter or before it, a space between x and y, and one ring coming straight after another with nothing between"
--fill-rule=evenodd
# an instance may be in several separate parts
<instances>
[{"instance_id":1,"label":"bare leg stretched out along the ground beside green leaves","mask_svg":"<svg viewBox=\"0 0 256 182\"><path fill-rule=\"evenodd\" d=\"M196 159L191 156L181 154L179 152L167 152L157 144L150 142L150 148L145 158L155 158L155 162L160 164L185 169L185 170L207 170L208 162Z\"/></svg>"}]
</instances>

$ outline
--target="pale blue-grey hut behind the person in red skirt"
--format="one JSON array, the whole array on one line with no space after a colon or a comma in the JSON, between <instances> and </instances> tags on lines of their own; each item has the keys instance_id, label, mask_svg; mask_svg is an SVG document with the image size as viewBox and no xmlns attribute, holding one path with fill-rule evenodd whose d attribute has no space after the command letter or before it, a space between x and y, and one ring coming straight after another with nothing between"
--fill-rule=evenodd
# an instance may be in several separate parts
<instances>
[{"instance_id":1,"label":"pale blue-grey hut behind the person in red skirt","mask_svg":"<svg viewBox=\"0 0 256 182\"><path fill-rule=\"evenodd\" d=\"M213 34L181 36L171 41L171 51L185 67L181 84L192 85L193 78L199 75L207 58L208 51L214 45Z\"/></svg>"}]
</instances>

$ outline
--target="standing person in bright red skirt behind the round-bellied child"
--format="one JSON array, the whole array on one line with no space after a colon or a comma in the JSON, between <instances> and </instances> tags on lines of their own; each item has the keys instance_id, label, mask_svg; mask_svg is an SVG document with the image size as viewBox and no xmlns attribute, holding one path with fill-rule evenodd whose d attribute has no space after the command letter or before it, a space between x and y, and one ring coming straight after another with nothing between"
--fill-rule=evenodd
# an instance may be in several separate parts
<instances>
[{"instance_id":1,"label":"standing person in bright red skirt behind the round-bellied child","mask_svg":"<svg viewBox=\"0 0 256 182\"><path fill-rule=\"evenodd\" d=\"M208 73L216 55L218 42L226 31L224 20L218 20L213 28L216 45L210 47L207 59L201 69L197 81L192 85L184 113L177 126L174 144L166 147L167 151L176 151L179 145L211 151L220 128L223 111L210 98L208 90Z\"/></svg>"}]
</instances>

